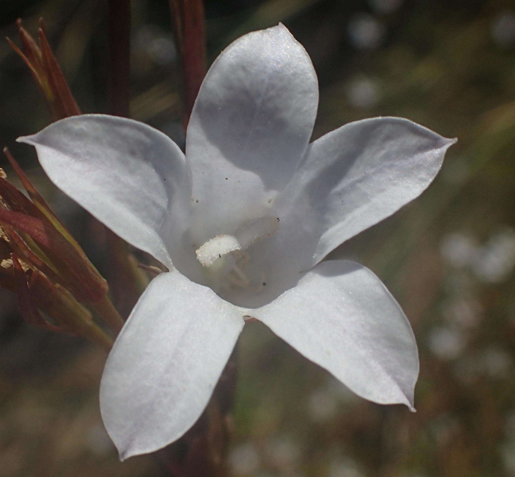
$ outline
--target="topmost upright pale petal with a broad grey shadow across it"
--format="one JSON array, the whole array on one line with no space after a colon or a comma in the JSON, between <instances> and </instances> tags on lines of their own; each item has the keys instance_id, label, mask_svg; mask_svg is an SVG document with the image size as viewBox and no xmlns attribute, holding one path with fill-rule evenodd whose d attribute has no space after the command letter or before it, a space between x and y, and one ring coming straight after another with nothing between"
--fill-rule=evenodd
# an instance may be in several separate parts
<instances>
[{"instance_id":1,"label":"topmost upright pale petal with a broad grey shadow across it","mask_svg":"<svg viewBox=\"0 0 515 477\"><path fill-rule=\"evenodd\" d=\"M220 54L186 134L194 241L201 245L266 215L273 191L304 156L317 104L311 60L283 25L249 33Z\"/></svg>"}]
</instances>

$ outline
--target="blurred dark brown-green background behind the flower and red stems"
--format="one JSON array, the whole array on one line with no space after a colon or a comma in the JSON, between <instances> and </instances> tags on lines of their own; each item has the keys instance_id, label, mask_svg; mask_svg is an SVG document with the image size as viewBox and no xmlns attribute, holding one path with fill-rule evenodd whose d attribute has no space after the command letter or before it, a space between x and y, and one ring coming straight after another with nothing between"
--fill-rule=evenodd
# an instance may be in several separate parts
<instances>
[{"instance_id":1,"label":"blurred dark brown-green background behind the flower and red stems","mask_svg":"<svg viewBox=\"0 0 515 477\"><path fill-rule=\"evenodd\" d=\"M101 0L0 4L48 37L83 112L107 111ZM183 141L180 68L166 0L134 0L131 115ZM515 6L510 0L207 0L208 58L283 22L320 82L314 138L354 120L403 116L457 137L415 202L330 258L371 268L417 336L417 413L355 397L260 323L241 337L234 476L515 475ZM102 236L14 142L52 116L0 41L0 145L7 145L101 272ZM4 159L0 159L3 161ZM5 166L5 164L2 164ZM14 180L6 168L9 179ZM32 328L0 290L0 476L166 475L119 463L98 411L105 352Z\"/></svg>"}]
</instances>

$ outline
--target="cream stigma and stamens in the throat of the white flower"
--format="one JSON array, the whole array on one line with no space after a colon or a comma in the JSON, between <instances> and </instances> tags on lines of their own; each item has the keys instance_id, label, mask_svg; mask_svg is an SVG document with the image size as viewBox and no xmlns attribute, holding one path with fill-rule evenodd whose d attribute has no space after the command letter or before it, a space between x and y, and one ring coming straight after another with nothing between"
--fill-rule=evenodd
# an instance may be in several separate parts
<instances>
[{"instance_id":1,"label":"cream stigma and stamens in the throat of the white flower","mask_svg":"<svg viewBox=\"0 0 515 477\"><path fill-rule=\"evenodd\" d=\"M238 229L234 235L217 235L195 253L205 267L213 288L248 288L251 280L245 273L250 255L245 251L253 243L269 237L279 229L278 217L261 217Z\"/></svg>"}]
</instances>

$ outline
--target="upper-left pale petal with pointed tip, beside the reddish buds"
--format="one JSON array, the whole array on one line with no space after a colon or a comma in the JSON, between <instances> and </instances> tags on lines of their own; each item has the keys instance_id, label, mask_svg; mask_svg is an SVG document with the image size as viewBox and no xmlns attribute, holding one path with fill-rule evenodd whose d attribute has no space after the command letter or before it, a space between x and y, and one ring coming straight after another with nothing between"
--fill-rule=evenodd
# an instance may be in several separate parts
<instances>
[{"instance_id":1,"label":"upper-left pale petal with pointed tip, beside the reddish buds","mask_svg":"<svg viewBox=\"0 0 515 477\"><path fill-rule=\"evenodd\" d=\"M36 146L48 177L130 244L170 266L160 228L185 207L190 171L179 147L137 121L102 114L73 116L19 138Z\"/></svg>"}]
</instances>

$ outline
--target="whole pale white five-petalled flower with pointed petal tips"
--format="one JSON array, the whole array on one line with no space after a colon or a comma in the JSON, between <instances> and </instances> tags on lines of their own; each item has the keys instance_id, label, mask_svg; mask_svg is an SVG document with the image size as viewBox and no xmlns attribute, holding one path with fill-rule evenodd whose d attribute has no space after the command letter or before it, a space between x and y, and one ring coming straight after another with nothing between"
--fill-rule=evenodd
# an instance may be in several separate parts
<instances>
[{"instance_id":1,"label":"whole pale white five-petalled flower with pointed petal tips","mask_svg":"<svg viewBox=\"0 0 515 477\"><path fill-rule=\"evenodd\" d=\"M279 25L213 63L187 129L83 115L21 138L57 186L169 268L152 280L100 386L122 458L178 439L201 414L251 316L356 394L413 409L418 355L382 282L322 259L417 197L453 143L402 118L309 143L317 78Z\"/></svg>"}]
</instances>

